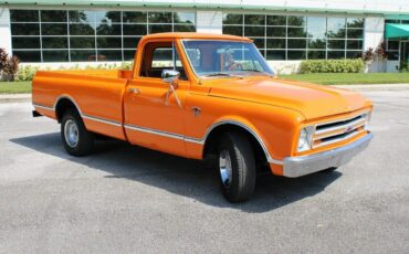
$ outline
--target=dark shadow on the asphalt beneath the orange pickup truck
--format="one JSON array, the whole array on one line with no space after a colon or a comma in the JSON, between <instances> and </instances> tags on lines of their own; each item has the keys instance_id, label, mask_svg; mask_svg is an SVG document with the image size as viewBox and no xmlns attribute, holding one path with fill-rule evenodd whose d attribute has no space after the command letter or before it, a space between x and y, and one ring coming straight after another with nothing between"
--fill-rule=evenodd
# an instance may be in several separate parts
<instances>
[{"instance_id":1,"label":"dark shadow on the asphalt beneath the orange pickup truck","mask_svg":"<svg viewBox=\"0 0 409 254\"><path fill-rule=\"evenodd\" d=\"M249 202L231 204L219 191L218 173L202 161L179 158L116 140L97 141L92 156L76 158L65 152L59 133L14 138L10 141L38 152L103 170L106 172L105 178L139 181L209 205L240 209L249 213L268 212L315 195L340 177L337 171L314 173L297 179L260 177L255 193Z\"/></svg>"}]
</instances>

